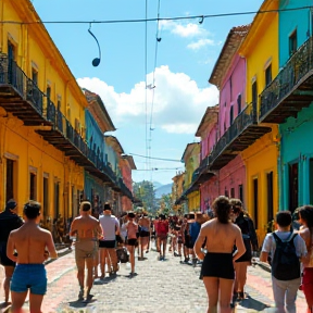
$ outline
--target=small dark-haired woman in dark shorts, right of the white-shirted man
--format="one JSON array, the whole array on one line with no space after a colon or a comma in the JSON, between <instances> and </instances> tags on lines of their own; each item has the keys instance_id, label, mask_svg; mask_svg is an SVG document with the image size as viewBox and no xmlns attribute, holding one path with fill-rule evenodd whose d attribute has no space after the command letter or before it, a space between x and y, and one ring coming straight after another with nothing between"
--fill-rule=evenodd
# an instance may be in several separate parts
<instances>
[{"instance_id":1,"label":"small dark-haired woman in dark shorts, right of the white-shirted man","mask_svg":"<svg viewBox=\"0 0 313 313\"><path fill-rule=\"evenodd\" d=\"M135 273L135 247L138 245L137 236L138 236L138 225L135 223L135 213L128 212L127 218L128 222L126 223L126 230L127 230L127 250L129 252L129 261L130 261L130 268L132 272L129 277L136 276Z\"/></svg>"}]
</instances>

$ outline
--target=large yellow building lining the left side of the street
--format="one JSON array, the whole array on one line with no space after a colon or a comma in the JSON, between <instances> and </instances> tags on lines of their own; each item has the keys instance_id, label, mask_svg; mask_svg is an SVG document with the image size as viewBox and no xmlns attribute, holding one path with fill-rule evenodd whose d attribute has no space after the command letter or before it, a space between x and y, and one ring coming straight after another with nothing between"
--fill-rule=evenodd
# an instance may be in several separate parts
<instances>
[{"instance_id":1,"label":"large yellow building lining the left side of the street","mask_svg":"<svg viewBox=\"0 0 313 313\"><path fill-rule=\"evenodd\" d=\"M2 0L0 18L16 22L0 23L0 206L14 198L22 214L34 199L45 222L76 215L92 165L87 100L29 0Z\"/></svg>"}]
</instances>

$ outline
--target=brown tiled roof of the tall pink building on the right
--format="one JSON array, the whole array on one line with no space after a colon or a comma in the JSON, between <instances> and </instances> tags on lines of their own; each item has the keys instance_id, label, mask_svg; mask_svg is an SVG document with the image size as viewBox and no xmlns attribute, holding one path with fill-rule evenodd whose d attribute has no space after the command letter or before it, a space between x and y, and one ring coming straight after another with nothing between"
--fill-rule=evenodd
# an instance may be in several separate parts
<instances>
[{"instance_id":1,"label":"brown tiled roof of the tall pink building on the right","mask_svg":"<svg viewBox=\"0 0 313 313\"><path fill-rule=\"evenodd\" d=\"M223 77L231 63L234 54L238 51L238 48L240 47L249 29L250 24L233 27L228 33L220 57L209 78L209 83L215 85L218 89L221 87Z\"/></svg>"}]
</instances>

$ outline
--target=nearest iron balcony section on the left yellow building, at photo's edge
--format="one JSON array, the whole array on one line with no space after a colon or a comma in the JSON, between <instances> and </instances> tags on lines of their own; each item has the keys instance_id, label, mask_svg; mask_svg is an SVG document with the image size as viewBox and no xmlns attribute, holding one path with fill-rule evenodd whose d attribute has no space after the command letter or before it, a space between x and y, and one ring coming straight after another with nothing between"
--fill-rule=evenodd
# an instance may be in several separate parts
<instances>
[{"instance_id":1,"label":"nearest iron balcony section on the left yellow building, at photo's edge","mask_svg":"<svg viewBox=\"0 0 313 313\"><path fill-rule=\"evenodd\" d=\"M26 126L47 125L45 95L16 62L0 57L0 107Z\"/></svg>"}]
</instances>

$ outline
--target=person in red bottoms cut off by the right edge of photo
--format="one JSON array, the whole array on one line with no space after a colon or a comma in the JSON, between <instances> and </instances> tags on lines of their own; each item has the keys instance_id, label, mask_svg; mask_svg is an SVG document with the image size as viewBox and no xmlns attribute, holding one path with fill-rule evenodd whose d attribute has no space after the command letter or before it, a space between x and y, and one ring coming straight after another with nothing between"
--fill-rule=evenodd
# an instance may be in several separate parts
<instances>
[{"instance_id":1,"label":"person in red bottoms cut off by the right edge of photo","mask_svg":"<svg viewBox=\"0 0 313 313\"><path fill-rule=\"evenodd\" d=\"M299 208L299 222L304 226L300 236L304 239L308 249L308 260L303 263L302 290L308 303L308 313L313 313L313 206Z\"/></svg>"}]
</instances>

